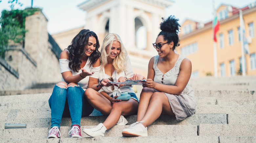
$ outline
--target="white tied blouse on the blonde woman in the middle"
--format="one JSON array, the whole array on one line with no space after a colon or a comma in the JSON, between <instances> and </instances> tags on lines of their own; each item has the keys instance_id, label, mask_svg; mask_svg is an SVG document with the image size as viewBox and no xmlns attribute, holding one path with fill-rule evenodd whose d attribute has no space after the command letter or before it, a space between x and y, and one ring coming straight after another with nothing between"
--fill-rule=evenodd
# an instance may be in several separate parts
<instances>
[{"instance_id":1,"label":"white tied blouse on the blonde woman in the middle","mask_svg":"<svg viewBox=\"0 0 256 143\"><path fill-rule=\"evenodd\" d=\"M112 77L113 77L114 82L117 82L117 79L121 76L130 78L133 75L134 75L134 72L132 69L131 61L130 61L129 56L127 56L124 71L121 71L118 74L115 70L112 74ZM101 80L103 78L110 78L110 76L105 73L104 67L99 71L99 80ZM115 87L114 91L117 91L117 87L116 86L114 86L114 87ZM130 87L128 85L122 86L119 89L121 90L121 92L133 92L134 93L132 87ZM113 95L113 91L110 90L110 87L102 87L98 92L101 92L101 91L105 91L109 96Z\"/></svg>"}]
</instances>

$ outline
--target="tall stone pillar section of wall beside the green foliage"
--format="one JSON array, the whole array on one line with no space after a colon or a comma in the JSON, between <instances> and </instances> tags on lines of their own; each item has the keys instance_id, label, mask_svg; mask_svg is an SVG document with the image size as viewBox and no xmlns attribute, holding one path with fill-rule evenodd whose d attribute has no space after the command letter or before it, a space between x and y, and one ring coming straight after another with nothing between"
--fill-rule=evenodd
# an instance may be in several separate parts
<instances>
[{"instance_id":1,"label":"tall stone pillar section of wall beside the green foliage","mask_svg":"<svg viewBox=\"0 0 256 143\"><path fill-rule=\"evenodd\" d=\"M61 80L59 60L52 52L52 45L48 41L48 20L42 12L36 12L26 18L24 49L37 63L37 82L52 83Z\"/></svg>"}]
</instances>

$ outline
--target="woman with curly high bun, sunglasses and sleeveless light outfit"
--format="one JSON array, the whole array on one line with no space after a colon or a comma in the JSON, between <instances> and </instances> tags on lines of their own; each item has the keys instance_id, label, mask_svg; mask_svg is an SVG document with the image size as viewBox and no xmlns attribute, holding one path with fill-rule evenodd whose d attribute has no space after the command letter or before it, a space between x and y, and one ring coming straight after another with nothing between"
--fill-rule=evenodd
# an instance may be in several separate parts
<instances>
[{"instance_id":1,"label":"woman with curly high bun, sunglasses and sleeveless light outfit","mask_svg":"<svg viewBox=\"0 0 256 143\"><path fill-rule=\"evenodd\" d=\"M161 32L153 43L158 55L150 59L147 79L134 74L131 79L146 79L140 94L137 122L123 129L123 136L147 136L147 126L160 115L170 115L183 120L195 113L194 91L188 85L191 61L175 53L179 46L179 19L162 18Z\"/></svg>"}]
</instances>

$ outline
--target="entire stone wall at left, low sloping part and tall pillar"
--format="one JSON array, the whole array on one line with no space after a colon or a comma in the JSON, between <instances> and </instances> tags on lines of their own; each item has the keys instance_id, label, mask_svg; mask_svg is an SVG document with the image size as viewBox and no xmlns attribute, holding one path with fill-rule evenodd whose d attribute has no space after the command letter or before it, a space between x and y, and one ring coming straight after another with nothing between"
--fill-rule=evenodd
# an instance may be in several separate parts
<instances>
[{"instance_id":1,"label":"entire stone wall at left, low sloping part and tall pillar","mask_svg":"<svg viewBox=\"0 0 256 143\"><path fill-rule=\"evenodd\" d=\"M0 60L0 91L24 90L36 83L61 80L59 54L55 55L53 45L48 41L47 22L40 11L26 18L25 47L10 45L6 58Z\"/></svg>"}]
</instances>

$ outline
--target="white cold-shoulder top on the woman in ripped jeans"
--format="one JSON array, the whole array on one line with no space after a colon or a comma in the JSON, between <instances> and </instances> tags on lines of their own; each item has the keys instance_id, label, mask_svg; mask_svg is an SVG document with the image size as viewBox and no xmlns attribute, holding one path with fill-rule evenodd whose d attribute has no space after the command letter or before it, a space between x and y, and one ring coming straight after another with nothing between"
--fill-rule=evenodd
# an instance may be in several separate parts
<instances>
[{"instance_id":1,"label":"white cold-shoulder top on the woman in ripped jeans","mask_svg":"<svg viewBox=\"0 0 256 143\"><path fill-rule=\"evenodd\" d=\"M69 62L70 60L68 59L59 59L59 66L60 66L60 73L63 73L65 71L71 71L72 75L77 75L80 74L82 72L82 70L79 70L78 72L73 71L72 69L69 68ZM90 65L91 59L90 57L88 57L87 62L85 64L85 66L83 67L86 71L88 72L93 72L94 74L91 76L86 76L84 79L80 80L77 84L82 87L84 90L88 88L88 82L89 82L89 77L93 77L98 79L99 78L99 70L100 67L93 67ZM62 77L62 81L64 81L63 77Z\"/></svg>"}]
</instances>

